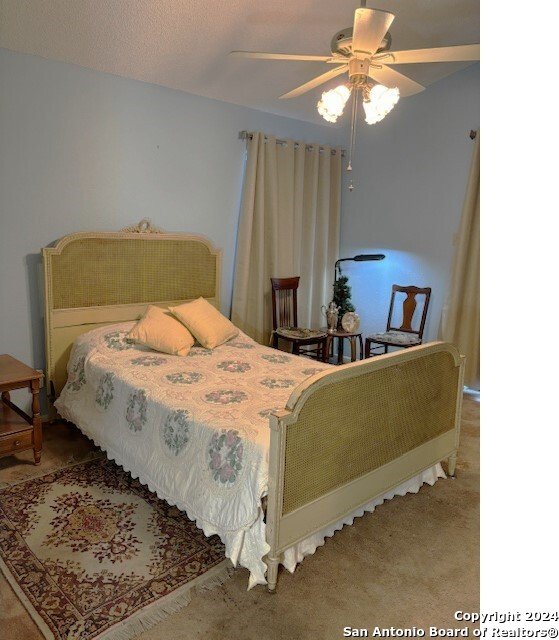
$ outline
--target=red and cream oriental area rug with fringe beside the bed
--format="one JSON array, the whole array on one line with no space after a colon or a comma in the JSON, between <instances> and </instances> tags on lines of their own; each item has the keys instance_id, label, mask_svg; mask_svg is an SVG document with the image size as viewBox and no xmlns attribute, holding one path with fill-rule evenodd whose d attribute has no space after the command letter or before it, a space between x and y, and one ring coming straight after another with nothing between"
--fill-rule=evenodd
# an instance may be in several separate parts
<instances>
[{"instance_id":1,"label":"red and cream oriental area rug with fringe beside the bed","mask_svg":"<svg viewBox=\"0 0 559 640\"><path fill-rule=\"evenodd\" d=\"M49 640L125 640L229 573L217 536L105 458L0 489L0 568Z\"/></svg>"}]
</instances>

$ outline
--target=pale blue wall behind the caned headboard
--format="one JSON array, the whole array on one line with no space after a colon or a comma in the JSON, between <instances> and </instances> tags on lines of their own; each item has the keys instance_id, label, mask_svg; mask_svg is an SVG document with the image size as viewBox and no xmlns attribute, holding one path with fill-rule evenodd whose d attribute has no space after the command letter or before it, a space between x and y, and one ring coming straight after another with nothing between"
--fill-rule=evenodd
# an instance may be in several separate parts
<instances>
[{"instance_id":1,"label":"pale blue wall behind the caned headboard","mask_svg":"<svg viewBox=\"0 0 559 640\"><path fill-rule=\"evenodd\" d=\"M42 247L144 217L223 249L229 313L243 129L343 140L341 129L0 49L0 353L44 367Z\"/></svg>"}]
</instances>

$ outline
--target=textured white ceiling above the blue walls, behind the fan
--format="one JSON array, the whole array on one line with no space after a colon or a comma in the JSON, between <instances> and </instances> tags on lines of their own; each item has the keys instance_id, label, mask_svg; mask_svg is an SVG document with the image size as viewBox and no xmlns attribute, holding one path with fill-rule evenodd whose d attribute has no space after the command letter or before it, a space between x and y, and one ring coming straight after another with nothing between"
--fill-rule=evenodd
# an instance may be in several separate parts
<instances>
[{"instance_id":1,"label":"textured white ceiling above the blue walls, behind the fan","mask_svg":"<svg viewBox=\"0 0 559 640\"><path fill-rule=\"evenodd\" d=\"M227 54L328 55L332 36L351 26L358 6L358 0L0 0L0 47L323 122L315 105L329 85L293 100L277 96L330 66ZM368 6L396 14L394 50L479 42L479 0L369 0ZM428 85L467 65L397 69Z\"/></svg>"}]
</instances>

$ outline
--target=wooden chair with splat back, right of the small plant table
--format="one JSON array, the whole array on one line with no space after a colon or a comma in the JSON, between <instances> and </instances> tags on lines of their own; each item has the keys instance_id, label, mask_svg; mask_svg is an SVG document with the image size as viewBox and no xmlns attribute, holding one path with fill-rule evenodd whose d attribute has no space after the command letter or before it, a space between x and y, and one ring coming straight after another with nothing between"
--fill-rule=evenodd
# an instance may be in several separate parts
<instances>
[{"instance_id":1,"label":"wooden chair with splat back, right of the small plant table","mask_svg":"<svg viewBox=\"0 0 559 640\"><path fill-rule=\"evenodd\" d=\"M405 293L406 299L403 302L403 319L400 327L392 325L392 312L394 311L394 299L397 293ZM413 316L417 308L416 296L425 296L423 303L423 313L421 314L421 322L419 329L412 327ZM425 328L425 320L427 319L427 309L429 308L429 299L431 298L431 287L420 289L419 287L401 287L397 284L392 285L392 295L390 297L390 310L388 312L388 322L386 323L386 331L382 333L373 333L365 340L365 358L371 356L373 349L382 349L384 353L388 353L388 347L415 347L423 341L423 329ZM378 347L371 347L377 344ZM374 355L374 354L373 354Z\"/></svg>"}]
</instances>

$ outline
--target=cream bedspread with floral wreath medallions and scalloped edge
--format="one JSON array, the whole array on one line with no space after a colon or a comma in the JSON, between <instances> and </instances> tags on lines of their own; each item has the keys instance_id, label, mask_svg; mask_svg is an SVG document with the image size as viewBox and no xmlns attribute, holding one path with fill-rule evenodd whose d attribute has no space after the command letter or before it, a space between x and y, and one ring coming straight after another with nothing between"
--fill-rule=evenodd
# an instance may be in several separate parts
<instances>
[{"instance_id":1,"label":"cream bedspread with floral wreath medallions and scalloped edge","mask_svg":"<svg viewBox=\"0 0 559 640\"><path fill-rule=\"evenodd\" d=\"M56 408L151 491L186 511L265 584L268 416L330 365L240 333L170 356L126 339L133 322L80 336Z\"/></svg>"}]
</instances>

